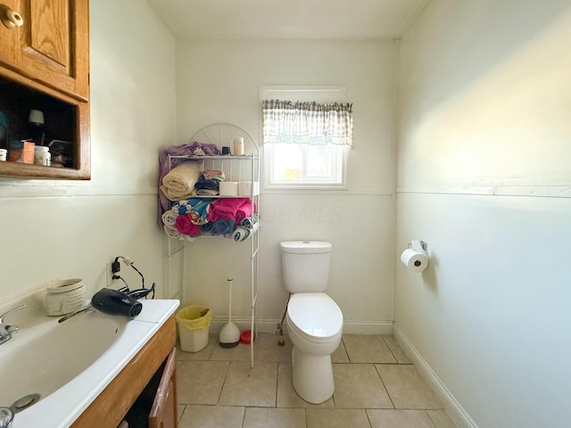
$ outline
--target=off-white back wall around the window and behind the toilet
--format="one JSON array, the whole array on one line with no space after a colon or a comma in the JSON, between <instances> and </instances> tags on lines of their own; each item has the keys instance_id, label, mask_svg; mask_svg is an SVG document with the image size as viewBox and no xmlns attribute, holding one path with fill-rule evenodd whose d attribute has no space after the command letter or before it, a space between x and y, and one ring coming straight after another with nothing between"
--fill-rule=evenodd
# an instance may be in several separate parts
<instances>
[{"instance_id":1,"label":"off-white back wall around the window and behind the toilet","mask_svg":"<svg viewBox=\"0 0 571 428\"><path fill-rule=\"evenodd\" d=\"M275 331L287 293L278 243L333 243L327 290L345 331L390 331L393 320L394 167L393 43L319 41L201 41L177 50L178 143L204 126L227 122L258 142L259 86L346 85L353 103L354 148L344 192L261 195L261 329ZM249 314L249 243L221 238L187 245L186 300L228 314L226 278L235 279L233 316Z\"/></svg>"}]
</instances>

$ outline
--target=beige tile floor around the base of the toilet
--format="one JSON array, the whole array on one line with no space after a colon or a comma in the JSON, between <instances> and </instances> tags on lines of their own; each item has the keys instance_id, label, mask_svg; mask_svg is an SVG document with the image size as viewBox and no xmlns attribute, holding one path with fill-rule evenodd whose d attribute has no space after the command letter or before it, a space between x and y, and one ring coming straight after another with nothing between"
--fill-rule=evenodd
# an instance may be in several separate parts
<instances>
[{"instance_id":1,"label":"beige tile floor around the base of the toilet","mask_svg":"<svg viewBox=\"0 0 571 428\"><path fill-rule=\"evenodd\" d=\"M179 428L455 428L393 336L345 334L332 355L335 394L319 405L292 386L292 344L178 350Z\"/></svg>"}]
</instances>

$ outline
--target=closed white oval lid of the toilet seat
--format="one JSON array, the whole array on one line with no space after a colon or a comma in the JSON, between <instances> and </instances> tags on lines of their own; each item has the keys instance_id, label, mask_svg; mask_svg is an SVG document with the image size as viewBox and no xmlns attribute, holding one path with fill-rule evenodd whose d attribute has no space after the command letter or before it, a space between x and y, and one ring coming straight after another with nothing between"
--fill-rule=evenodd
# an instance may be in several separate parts
<instances>
[{"instance_id":1,"label":"closed white oval lid of the toilet seat","mask_svg":"<svg viewBox=\"0 0 571 428\"><path fill-rule=\"evenodd\" d=\"M325 292L293 294L287 316L300 331L316 339L333 337L343 328L343 313Z\"/></svg>"}]
</instances>

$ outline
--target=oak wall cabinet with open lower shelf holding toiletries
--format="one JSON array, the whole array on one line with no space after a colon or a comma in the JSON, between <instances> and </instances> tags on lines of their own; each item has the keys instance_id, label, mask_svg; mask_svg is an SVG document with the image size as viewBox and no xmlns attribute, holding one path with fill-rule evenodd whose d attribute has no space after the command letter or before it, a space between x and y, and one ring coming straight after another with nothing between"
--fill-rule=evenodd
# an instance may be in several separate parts
<instances>
[{"instance_id":1,"label":"oak wall cabinet with open lower shelf holding toiletries","mask_svg":"<svg viewBox=\"0 0 571 428\"><path fill-rule=\"evenodd\" d=\"M23 24L0 24L0 111L9 139L26 138L27 113L42 110L44 145L61 140L70 150L65 168L0 162L0 175L89 179L89 2L0 0L1 16L11 10Z\"/></svg>"}]
</instances>

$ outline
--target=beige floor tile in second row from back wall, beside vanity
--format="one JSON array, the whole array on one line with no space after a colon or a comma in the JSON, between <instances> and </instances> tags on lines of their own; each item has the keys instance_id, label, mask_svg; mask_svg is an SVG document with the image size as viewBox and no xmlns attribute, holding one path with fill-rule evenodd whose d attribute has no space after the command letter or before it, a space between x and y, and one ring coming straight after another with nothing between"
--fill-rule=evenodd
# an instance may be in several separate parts
<instances>
[{"instance_id":1,"label":"beige floor tile in second row from back wall, beside vanity","mask_svg":"<svg viewBox=\"0 0 571 428\"><path fill-rule=\"evenodd\" d=\"M181 404L216 404L228 372L228 361L182 361L177 373Z\"/></svg>"}]
</instances>

